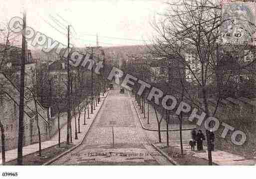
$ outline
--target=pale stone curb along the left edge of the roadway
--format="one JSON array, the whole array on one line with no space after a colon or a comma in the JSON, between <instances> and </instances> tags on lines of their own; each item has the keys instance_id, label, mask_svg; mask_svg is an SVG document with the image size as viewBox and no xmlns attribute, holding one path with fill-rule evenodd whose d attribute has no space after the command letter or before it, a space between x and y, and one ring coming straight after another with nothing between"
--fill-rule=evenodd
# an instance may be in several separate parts
<instances>
[{"instance_id":1,"label":"pale stone curb along the left edge of the roadway","mask_svg":"<svg viewBox=\"0 0 256 179\"><path fill-rule=\"evenodd\" d=\"M69 153L69 152L73 151L74 149L76 149L77 147L79 147L79 146L83 143L83 141L84 141L85 137L87 136L88 132L89 132L89 131L90 131L90 129L91 129L91 126L93 125L93 123L94 123L95 119L97 118L97 116L98 116L98 114L99 114L99 111L100 111L101 107L104 105L104 103L105 103L105 101L106 101L106 99L107 99L108 95L109 95L109 91L108 91L108 93L107 93L106 97L104 98L104 101L103 101L102 105L100 106L100 108L99 108L99 110L98 110L97 114L95 115L95 117L94 117L94 119L93 119L93 121L92 121L92 123L91 123L90 127L88 128L87 132L84 134L84 136L83 136L83 138L82 138L81 142L80 142L79 144L77 144L76 146L72 147L71 149L69 149L69 150L67 150L67 151L63 152L63 153L62 153L62 154L60 154L60 155L58 155L57 157L55 157L55 158L51 159L50 161L48 161L48 162L44 163L42 166L50 165L51 163L55 162L56 160L58 160L59 158L61 158L61 157L62 157L62 156L64 156L64 155L66 155L67 153Z\"/></svg>"}]
</instances>

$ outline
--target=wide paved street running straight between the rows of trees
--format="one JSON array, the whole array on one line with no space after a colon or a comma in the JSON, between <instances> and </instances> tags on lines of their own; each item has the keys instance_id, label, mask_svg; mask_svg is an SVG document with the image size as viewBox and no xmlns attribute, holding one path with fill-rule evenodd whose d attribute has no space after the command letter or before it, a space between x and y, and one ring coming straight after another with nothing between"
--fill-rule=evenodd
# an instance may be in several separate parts
<instances>
[{"instance_id":1,"label":"wide paved street running straight between the rows of trees","mask_svg":"<svg viewBox=\"0 0 256 179\"><path fill-rule=\"evenodd\" d=\"M128 92L119 91L110 90L82 144L51 165L171 165L151 146Z\"/></svg>"}]
</instances>

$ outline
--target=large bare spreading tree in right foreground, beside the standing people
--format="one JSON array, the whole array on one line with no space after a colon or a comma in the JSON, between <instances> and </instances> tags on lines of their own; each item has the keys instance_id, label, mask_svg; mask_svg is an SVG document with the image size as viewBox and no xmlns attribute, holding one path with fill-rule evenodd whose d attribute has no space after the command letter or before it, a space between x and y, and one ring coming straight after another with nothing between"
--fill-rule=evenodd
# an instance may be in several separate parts
<instances>
[{"instance_id":1,"label":"large bare spreading tree in right foreground, beside the standing people","mask_svg":"<svg viewBox=\"0 0 256 179\"><path fill-rule=\"evenodd\" d=\"M161 14L163 20L153 22L153 26L158 35L155 36L154 45L151 51L155 56L172 58L173 55L186 70L186 75L190 75L192 84L199 88L202 93L203 107L200 108L206 113L206 117L214 116L219 102L224 96L225 89L219 87L218 103L215 106L215 112L211 112L208 102L208 86L215 81L216 71L220 66L221 59L229 56L229 59L243 58L238 55L239 52L249 49L251 43L245 41L242 45L225 44L222 42L222 24L221 7L218 0L180 0L178 3L169 3L170 9ZM249 25L250 26L250 25ZM249 33L253 34L254 27L250 27ZM239 46L239 50L237 49ZM219 52L221 49L221 53ZM237 51L238 53L233 53ZM221 55L220 55L221 54ZM253 60L255 62L255 59ZM196 66L195 66L196 65ZM249 64L251 65L251 64ZM244 66L245 67L245 66ZM239 69L244 68L240 66ZM217 81L229 79L229 74L223 74ZM238 75L238 74L236 74ZM188 77L188 76L187 76ZM223 83L224 84L224 83ZM222 85L223 87L224 85ZM196 96L185 94L197 105ZM206 130L207 144L209 145L209 131ZM209 165L212 165L211 150L208 147Z\"/></svg>"}]
</instances>

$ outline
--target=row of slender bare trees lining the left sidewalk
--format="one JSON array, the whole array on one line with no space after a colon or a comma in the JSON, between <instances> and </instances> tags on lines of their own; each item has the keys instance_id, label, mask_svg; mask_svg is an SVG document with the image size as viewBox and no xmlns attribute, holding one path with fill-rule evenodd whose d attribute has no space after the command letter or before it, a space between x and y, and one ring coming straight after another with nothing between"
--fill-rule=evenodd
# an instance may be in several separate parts
<instances>
[{"instance_id":1,"label":"row of slender bare trees lining the left sidewalk","mask_svg":"<svg viewBox=\"0 0 256 179\"><path fill-rule=\"evenodd\" d=\"M1 73L1 79L0 79L0 108L1 108L1 114L4 113L6 110L6 103L9 101L14 102L17 106L20 106L19 103L16 101L16 99L13 98L13 94L11 89L14 86L10 85L10 82L13 81L13 79L16 79L16 75L11 72L10 69L8 69L8 61L12 59L20 59L23 58L21 55L21 49L20 48L13 48L16 47L15 43L10 43L9 39L12 39L12 34L7 28L4 29L4 31L1 31L1 38L4 40L4 43L1 44L0 48L0 73ZM15 37L14 39L17 40ZM25 43L23 39L22 43ZM12 42L12 41L11 41ZM13 49L16 50L16 52L13 52ZM23 48L22 48L23 49ZM11 51L11 53L10 53ZM13 56L14 54L14 56ZM12 55L12 56L10 56ZM24 59L26 60L26 59ZM14 60L15 61L15 60ZM20 60L22 61L22 60ZM25 61L24 61L25 63ZM19 65L21 62L19 62ZM13 65L13 64L12 64ZM92 107L95 109L95 105L97 106L100 102L100 93L104 95L105 92L108 89L109 83L106 80L106 75L109 72L109 67L105 69L105 71L101 71L99 75L93 74L94 76L94 86L93 86L93 101L90 101L90 95L89 91L91 91L90 86L90 76L88 75L88 71L85 70L83 67L72 67L70 78L71 78L71 110L72 110L72 117L73 120L75 120L75 139L77 139L77 133L80 133L80 125L81 125L81 119L82 119L82 112L84 111L83 115L83 125L86 125L86 117L89 119L89 103L92 103ZM15 71L16 72L16 71ZM20 76L25 76L25 72L20 74ZM66 103L67 103L67 83L65 76L57 75L57 77L52 74L47 67L41 66L39 64L36 64L36 72L35 72L36 78L33 78L32 84L30 86L26 86L24 83L24 93L29 93L30 97L33 100L33 109L30 109L33 111L34 119L36 122L36 128L38 133L38 148L39 148L39 156L42 157L41 153L41 127L39 124L39 105L42 105L45 108L49 107L55 107L55 112L58 120L58 147L60 148L60 120L61 120L61 113L66 111ZM34 76L34 77L35 77ZM6 80L8 78L8 80ZM13 78L13 79L12 79ZM36 80L35 80L36 79ZM23 82L25 81L25 78L23 79ZM21 80L19 81L19 84L17 84L16 87L18 87L21 83ZM21 86L22 88L22 86ZM19 91L19 90L18 90ZM26 94L24 94L25 96ZM23 95L21 94L20 97ZM21 104L22 105L22 104ZM25 105L23 105L23 108L26 108ZM86 111L87 110L87 111ZM25 110L21 112L26 113ZM21 115L19 115L22 117ZM30 116L32 117L32 116ZM5 131L4 131L4 118L2 117L0 119L0 131L1 131L1 154L2 154L2 164L5 164ZM23 119L21 120L23 121ZM71 122L71 121L70 121ZM23 125L21 125L22 128ZM20 126L19 126L20 127ZM24 132L24 129L19 129L20 134ZM70 125L70 131L71 133L71 125ZM72 142L72 135L70 138L70 142ZM18 143L20 143L20 140L18 140ZM19 145L19 152L18 152L18 165L22 165L22 148L23 142L21 145Z\"/></svg>"}]
</instances>

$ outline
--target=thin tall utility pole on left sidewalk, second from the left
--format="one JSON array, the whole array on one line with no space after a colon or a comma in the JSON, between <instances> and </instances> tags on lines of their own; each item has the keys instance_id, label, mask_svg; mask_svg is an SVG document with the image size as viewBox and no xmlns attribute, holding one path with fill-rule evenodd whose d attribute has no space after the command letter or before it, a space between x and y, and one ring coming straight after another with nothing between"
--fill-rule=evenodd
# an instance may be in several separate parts
<instances>
[{"instance_id":1,"label":"thin tall utility pole on left sidewalk, second from the left","mask_svg":"<svg viewBox=\"0 0 256 179\"><path fill-rule=\"evenodd\" d=\"M66 143L69 144L70 140L70 127L71 127L71 104L70 104L70 67L69 67L69 30L70 25L67 26L67 50L68 50L68 56L67 56L67 140Z\"/></svg>"}]
</instances>

